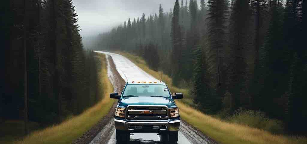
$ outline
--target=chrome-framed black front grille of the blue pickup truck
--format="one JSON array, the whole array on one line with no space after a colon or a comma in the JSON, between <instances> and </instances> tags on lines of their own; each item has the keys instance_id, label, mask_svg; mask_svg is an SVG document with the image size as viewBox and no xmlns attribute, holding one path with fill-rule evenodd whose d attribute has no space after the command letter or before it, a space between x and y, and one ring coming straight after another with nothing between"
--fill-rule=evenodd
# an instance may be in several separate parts
<instances>
[{"instance_id":1,"label":"chrome-framed black front grille of the blue pickup truck","mask_svg":"<svg viewBox=\"0 0 307 144\"><path fill-rule=\"evenodd\" d=\"M128 107L128 118L167 118L166 106L130 106Z\"/></svg>"}]
</instances>

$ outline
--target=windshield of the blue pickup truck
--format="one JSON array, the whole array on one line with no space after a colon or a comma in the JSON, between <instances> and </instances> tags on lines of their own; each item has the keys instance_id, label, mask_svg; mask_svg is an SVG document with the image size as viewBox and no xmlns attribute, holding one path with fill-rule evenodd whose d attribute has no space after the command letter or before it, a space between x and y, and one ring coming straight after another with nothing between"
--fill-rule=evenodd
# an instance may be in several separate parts
<instances>
[{"instance_id":1,"label":"windshield of the blue pickup truck","mask_svg":"<svg viewBox=\"0 0 307 144\"><path fill-rule=\"evenodd\" d=\"M129 84L123 93L125 96L162 96L170 97L165 85L157 84Z\"/></svg>"}]
</instances>

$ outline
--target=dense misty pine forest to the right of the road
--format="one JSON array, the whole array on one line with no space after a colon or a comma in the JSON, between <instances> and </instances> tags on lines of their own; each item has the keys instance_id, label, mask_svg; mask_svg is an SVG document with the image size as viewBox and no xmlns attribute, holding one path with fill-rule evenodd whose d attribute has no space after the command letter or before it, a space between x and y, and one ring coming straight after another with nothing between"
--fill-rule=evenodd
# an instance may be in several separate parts
<instances>
[{"instance_id":1,"label":"dense misty pine forest to the right of the road","mask_svg":"<svg viewBox=\"0 0 307 144\"><path fill-rule=\"evenodd\" d=\"M306 0L176 0L92 37L91 48L143 56L207 114L260 110L306 134L305 33Z\"/></svg>"}]
</instances>

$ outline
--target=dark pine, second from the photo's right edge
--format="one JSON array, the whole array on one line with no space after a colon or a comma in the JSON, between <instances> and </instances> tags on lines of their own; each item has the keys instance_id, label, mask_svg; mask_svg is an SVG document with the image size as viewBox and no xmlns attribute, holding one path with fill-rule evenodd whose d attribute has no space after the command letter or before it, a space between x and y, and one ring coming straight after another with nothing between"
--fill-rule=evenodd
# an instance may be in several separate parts
<instances>
[{"instance_id":1,"label":"dark pine, second from the photo's right edge","mask_svg":"<svg viewBox=\"0 0 307 144\"><path fill-rule=\"evenodd\" d=\"M256 99L256 103L268 115L279 117L278 105L274 99L285 95L290 78L289 72L289 49L283 46L283 7L282 1L273 0L270 2L270 27L263 46L263 88ZM277 84L278 83L278 84ZM265 96L265 97L264 97ZM263 101L263 99L266 99Z\"/></svg>"}]
</instances>

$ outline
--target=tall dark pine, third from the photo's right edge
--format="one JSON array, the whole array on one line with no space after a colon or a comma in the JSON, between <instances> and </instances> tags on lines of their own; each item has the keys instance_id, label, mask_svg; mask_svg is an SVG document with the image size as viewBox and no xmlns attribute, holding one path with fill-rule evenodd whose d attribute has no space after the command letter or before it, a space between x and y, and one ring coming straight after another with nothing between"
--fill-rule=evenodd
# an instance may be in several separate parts
<instances>
[{"instance_id":1,"label":"tall dark pine, third from the photo's right edge","mask_svg":"<svg viewBox=\"0 0 307 144\"><path fill-rule=\"evenodd\" d=\"M246 0L233 0L230 18L230 59L229 88L232 95L233 110L249 107L247 92L247 60L245 52L249 49L251 10Z\"/></svg>"}]
</instances>

